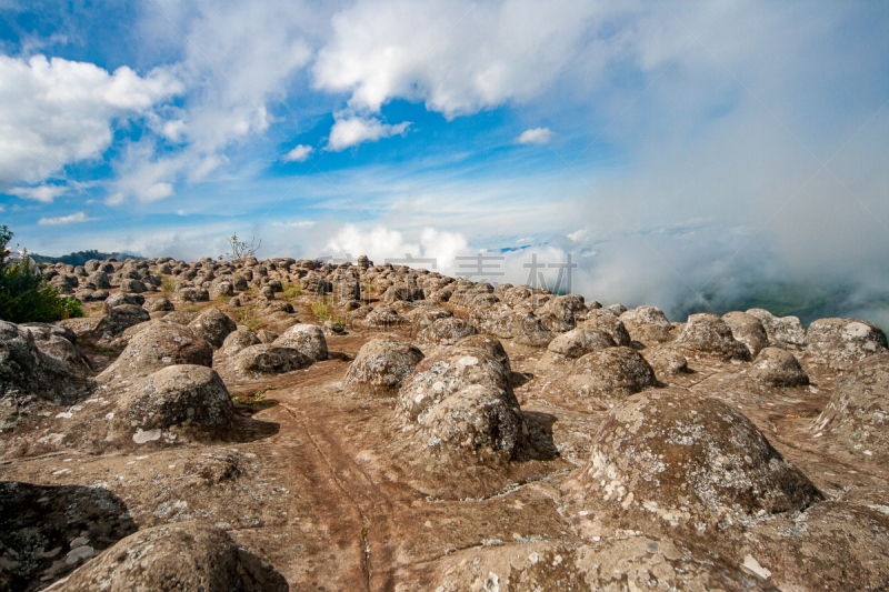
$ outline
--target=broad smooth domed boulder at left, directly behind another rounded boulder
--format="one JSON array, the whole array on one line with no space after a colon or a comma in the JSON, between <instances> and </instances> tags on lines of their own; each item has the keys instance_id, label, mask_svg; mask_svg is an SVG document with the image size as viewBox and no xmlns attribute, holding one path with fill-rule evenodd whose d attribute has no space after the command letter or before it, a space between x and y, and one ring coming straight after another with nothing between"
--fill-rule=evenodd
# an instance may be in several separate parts
<instances>
[{"instance_id":1,"label":"broad smooth domed boulder at left, directly behind another rounded boulder","mask_svg":"<svg viewBox=\"0 0 889 592\"><path fill-rule=\"evenodd\" d=\"M151 321L130 339L123 352L96 381L99 384L128 381L178 364L209 368L213 364L213 349L186 327Z\"/></svg>"}]
</instances>

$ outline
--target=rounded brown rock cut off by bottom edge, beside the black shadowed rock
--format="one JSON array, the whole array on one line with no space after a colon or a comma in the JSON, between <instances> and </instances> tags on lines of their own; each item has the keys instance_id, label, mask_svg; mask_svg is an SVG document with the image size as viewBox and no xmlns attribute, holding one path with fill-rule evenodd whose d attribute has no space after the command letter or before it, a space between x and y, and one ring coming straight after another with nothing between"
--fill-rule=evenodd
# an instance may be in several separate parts
<instances>
[{"instance_id":1,"label":"rounded brown rock cut off by bottom edge, beside the black shadowed rock","mask_svg":"<svg viewBox=\"0 0 889 592\"><path fill-rule=\"evenodd\" d=\"M183 522L127 536L52 592L284 592L287 581L209 524Z\"/></svg>"}]
</instances>

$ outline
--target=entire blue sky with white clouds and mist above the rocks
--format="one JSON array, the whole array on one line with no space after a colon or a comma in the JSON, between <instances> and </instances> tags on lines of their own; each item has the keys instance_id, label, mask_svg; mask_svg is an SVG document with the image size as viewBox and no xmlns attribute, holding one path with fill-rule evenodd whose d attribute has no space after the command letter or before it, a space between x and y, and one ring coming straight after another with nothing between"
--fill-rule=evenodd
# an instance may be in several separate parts
<instances>
[{"instance_id":1,"label":"entire blue sky with white clouds and mist above the rocks","mask_svg":"<svg viewBox=\"0 0 889 592\"><path fill-rule=\"evenodd\" d=\"M505 252L522 282L571 253L602 301L791 280L867 309L887 101L877 1L0 0L0 220L41 254L237 232L449 273Z\"/></svg>"}]
</instances>

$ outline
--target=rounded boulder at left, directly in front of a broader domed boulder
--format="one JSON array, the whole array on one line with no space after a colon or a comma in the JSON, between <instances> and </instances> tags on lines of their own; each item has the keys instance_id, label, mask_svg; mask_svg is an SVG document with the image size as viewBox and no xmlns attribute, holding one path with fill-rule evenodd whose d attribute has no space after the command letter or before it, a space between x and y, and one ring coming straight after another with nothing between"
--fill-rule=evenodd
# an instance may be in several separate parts
<instances>
[{"instance_id":1,"label":"rounded boulder at left, directly in front of a broader domed boulder","mask_svg":"<svg viewBox=\"0 0 889 592\"><path fill-rule=\"evenodd\" d=\"M170 365L118 393L112 432L141 444L174 428L222 430L233 414L231 397L216 370Z\"/></svg>"}]
</instances>

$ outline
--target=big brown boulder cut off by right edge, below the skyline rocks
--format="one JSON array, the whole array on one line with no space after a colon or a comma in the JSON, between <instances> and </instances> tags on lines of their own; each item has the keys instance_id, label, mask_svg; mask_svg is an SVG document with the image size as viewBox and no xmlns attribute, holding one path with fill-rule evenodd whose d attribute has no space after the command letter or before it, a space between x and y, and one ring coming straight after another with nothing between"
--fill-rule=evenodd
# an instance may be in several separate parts
<instances>
[{"instance_id":1,"label":"big brown boulder cut off by right edge, below the skyline rocks","mask_svg":"<svg viewBox=\"0 0 889 592\"><path fill-rule=\"evenodd\" d=\"M831 449L889 464L889 352L850 368L812 423Z\"/></svg>"}]
</instances>

